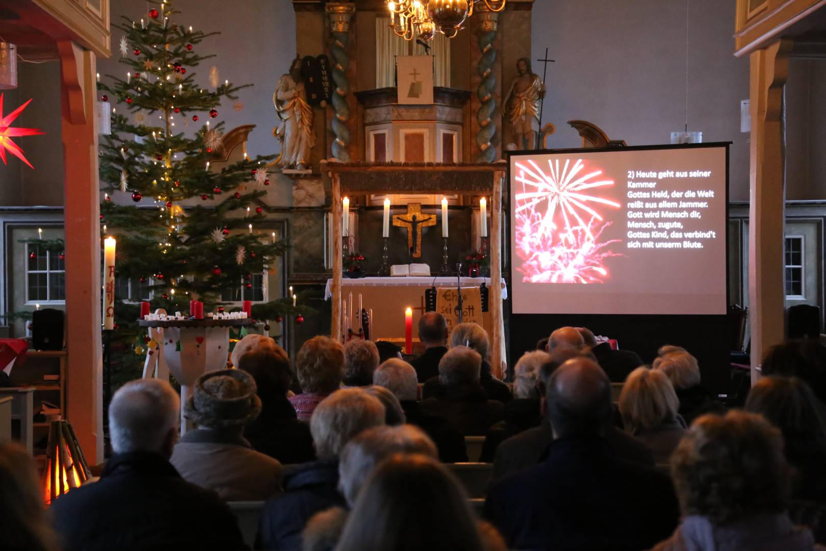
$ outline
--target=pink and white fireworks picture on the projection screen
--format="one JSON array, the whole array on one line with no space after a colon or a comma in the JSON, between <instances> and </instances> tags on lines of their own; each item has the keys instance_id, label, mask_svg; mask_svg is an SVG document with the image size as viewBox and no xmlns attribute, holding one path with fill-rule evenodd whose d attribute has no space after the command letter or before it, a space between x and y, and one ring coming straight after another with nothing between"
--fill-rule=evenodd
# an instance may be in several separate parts
<instances>
[{"instance_id":1,"label":"pink and white fireworks picture on the projection screen","mask_svg":"<svg viewBox=\"0 0 826 551\"><path fill-rule=\"evenodd\" d=\"M586 170L582 159L548 160L548 171L533 159L516 163L515 195L517 269L529 283L604 283L609 277L605 259L621 256L610 250L619 240L601 240L604 207L618 202L593 193L613 186L601 170Z\"/></svg>"}]
</instances>

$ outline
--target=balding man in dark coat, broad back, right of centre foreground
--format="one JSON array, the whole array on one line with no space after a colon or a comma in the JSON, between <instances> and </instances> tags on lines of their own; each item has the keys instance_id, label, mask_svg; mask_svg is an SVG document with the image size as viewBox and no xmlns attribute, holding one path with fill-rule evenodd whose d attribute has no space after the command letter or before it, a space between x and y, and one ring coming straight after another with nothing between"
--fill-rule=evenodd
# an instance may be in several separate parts
<instances>
[{"instance_id":1,"label":"balding man in dark coat, broad back, right of centre foreground","mask_svg":"<svg viewBox=\"0 0 826 551\"><path fill-rule=\"evenodd\" d=\"M672 533L680 511L669 477L617 458L605 434L610 380L587 359L548 382L554 440L543 463L493 484L484 516L509 549L648 549Z\"/></svg>"}]
</instances>

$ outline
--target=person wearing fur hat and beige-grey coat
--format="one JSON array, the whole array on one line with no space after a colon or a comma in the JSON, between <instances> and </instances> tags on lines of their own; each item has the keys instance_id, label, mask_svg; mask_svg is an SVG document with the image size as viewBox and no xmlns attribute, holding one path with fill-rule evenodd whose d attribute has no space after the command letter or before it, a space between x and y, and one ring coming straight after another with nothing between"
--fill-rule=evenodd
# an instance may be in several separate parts
<instances>
[{"instance_id":1,"label":"person wearing fur hat and beige-grey coat","mask_svg":"<svg viewBox=\"0 0 826 551\"><path fill-rule=\"evenodd\" d=\"M244 425L261 413L255 381L240 369L197 378L183 415L197 424L175 445L170 463L187 480L225 501L262 501L281 488L281 463L255 451Z\"/></svg>"}]
</instances>

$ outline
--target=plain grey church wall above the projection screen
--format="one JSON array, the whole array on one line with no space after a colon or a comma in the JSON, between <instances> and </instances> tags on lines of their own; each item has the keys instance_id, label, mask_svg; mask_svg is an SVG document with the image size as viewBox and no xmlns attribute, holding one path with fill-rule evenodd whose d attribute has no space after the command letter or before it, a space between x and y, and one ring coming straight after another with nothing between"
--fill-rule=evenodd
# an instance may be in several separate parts
<instances>
[{"instance_id":1,"label":"plain grey church wall above the projection screen","mask_svg":"<svg viewBox=\"0 0 826 551\"><path fill-rule=\"evenodd\" d=\"M584 119L629 145L668 143L686 124L686 2L577 0L534 2L535 59L548 56L543 121L557 126L551 147L577 147L567 121ZM732 201L748 201L748 134L740 100L748 98L748 59L733 56L734 6L691 0L690 131L733 141Z\"/></svg>"}]
</instances>

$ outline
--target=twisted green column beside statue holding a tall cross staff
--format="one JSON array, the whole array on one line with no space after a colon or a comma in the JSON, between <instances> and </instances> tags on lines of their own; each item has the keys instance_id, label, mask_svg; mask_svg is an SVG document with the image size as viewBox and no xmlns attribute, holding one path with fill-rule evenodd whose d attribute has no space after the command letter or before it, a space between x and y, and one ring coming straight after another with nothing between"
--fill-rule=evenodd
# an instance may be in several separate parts
<instances>
[{"instance_id":1,"label":"twisted green column beside statue holding a tall cross staff","mask_svg":"<svg viewBox=\"0 0 826 551\"><path fill-rule=\"evenodd\" d=\"M493 93L496 90L496 24L499 14L487 10L480 10L481 33L479 34L479 50L482 57L477 64L477 74L482 78L476 88L476 97L482 104L476 112L476 121L479 131L476 133L476 145L479 148L476 160L479 163L492 163L496 160L496 147L493 139L496 136L496 99Z\"/></svg>"}]
</instances>

